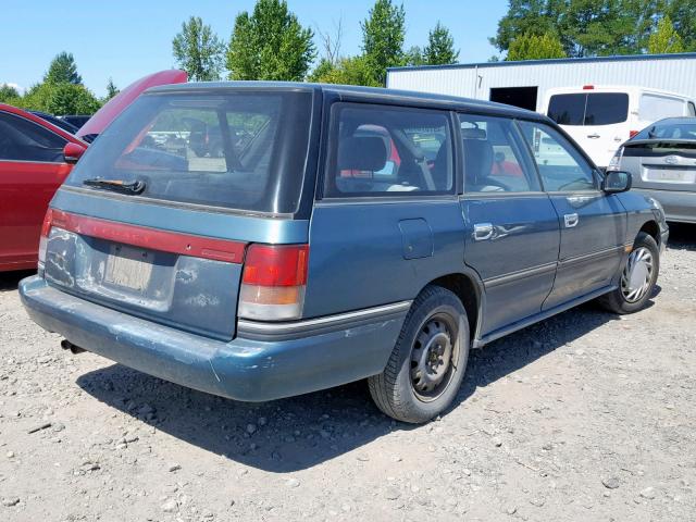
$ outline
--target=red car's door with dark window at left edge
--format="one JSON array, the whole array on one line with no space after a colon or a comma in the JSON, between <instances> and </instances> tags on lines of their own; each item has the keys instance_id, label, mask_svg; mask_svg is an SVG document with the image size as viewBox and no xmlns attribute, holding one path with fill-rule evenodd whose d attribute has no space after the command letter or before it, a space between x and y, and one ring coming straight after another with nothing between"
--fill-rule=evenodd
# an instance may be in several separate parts
<instances>
[{"instance_id":1,"label":"red car's door with dark window at left edge","mask_svg":"<svg viewBox=\"0 0 696 522\"><path fill-rule=\"evenodd\" d=\"M0 110L0 271L36 266L44 214L72 169L63 161L67 141Z\"/></svg>"}]
</instances>

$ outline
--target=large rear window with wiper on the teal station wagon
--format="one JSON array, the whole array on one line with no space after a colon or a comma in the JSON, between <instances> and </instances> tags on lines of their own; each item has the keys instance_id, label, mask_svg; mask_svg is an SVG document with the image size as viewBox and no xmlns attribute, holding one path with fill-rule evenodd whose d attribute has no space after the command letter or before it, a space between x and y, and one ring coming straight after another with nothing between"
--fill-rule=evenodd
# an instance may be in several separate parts
<instances>
[{"instance_id":1,"label":"large rear window with wiper on the teal station wagon","mask_svg":"<svg viewBox=\"0 0 696 522\"><path fill-rule=\"evenodd\" d=\"M95 140L66 185L138 184L140 197L294 213L310 120L310 92L145 95Z\"/></svg>"}]
</instances>

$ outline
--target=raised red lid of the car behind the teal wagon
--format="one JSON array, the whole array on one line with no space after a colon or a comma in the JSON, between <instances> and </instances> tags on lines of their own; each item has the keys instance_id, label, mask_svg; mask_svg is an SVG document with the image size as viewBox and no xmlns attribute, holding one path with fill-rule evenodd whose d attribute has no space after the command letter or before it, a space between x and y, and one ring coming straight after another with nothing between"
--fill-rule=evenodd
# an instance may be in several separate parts
<instances>
[{"instance_id":1,"label":"raised red lid of the car behind the teal wagon","mask_svg":"<svg viewBox=\"0 0 696 522\"><path fill-rule=\"evenodd\" d=\"M101 134L107 125L133 103L133 100L140 96L144 90L158 85L184 84L187 79L186 72L176 69L160 71L136 79L99 109L77 132L77 137L83 138L89 134Z\"/></svg>"}]
</instances>

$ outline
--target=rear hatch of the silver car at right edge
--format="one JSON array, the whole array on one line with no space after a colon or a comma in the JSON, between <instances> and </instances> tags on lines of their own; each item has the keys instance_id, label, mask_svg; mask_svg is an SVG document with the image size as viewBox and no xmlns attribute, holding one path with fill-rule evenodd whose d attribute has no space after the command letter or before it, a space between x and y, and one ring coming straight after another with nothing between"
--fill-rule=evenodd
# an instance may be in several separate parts
<instances>
[{"instance_id":1,"label":"rear hatch of the silver car at right edge","mask_svg":"<svg viewBox=\"0 0 696 522\"><path fill-rule=\"evenodd\" d=\"M696 190L696 140L632 140L624 145L622 165L638 173L636 186L656 190Z\"/></svg>"}]
</instances>

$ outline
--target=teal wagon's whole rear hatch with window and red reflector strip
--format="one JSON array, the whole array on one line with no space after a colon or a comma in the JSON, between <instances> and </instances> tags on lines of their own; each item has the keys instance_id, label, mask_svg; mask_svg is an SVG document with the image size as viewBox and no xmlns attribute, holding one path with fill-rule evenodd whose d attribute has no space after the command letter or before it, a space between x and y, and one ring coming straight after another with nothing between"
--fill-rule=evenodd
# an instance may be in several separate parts
<instances>
[{"instance_id":1,"label":"teal wagon's whole rear hatch with window and red reflector strip","mask_svg":"<svg viewBox=\"0 0 696 522\"><path fill-rule=\"evenodd\" d=\"M252 245L307 243L298 209L312 107L309 90L142 96L57 194L42 231L46 279L109 308L231 339ZM221 127L220 156L191 150L200 121Z\"/></svg>"}]
</instances>

